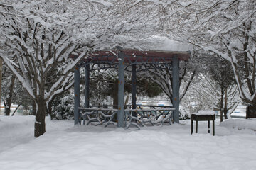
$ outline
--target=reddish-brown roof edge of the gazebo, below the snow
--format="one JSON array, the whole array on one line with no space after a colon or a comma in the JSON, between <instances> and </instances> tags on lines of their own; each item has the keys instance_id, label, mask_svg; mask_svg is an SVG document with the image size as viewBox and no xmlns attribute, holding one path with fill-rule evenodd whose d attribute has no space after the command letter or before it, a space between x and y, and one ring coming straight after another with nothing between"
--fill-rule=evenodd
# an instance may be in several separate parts
<instances>
[{"instance_id":1,"label":"reddish-brown roof edge of the gazebo, below the snow","mask_svg":"<svg viewBox=\"0 0 256 170\"><path fill-rule=\"evenodd\" d=\"M171 62L173 57L178 57L178 60L186 61L191 55L190 51L175 52L164 50L148 50L140 51L134 49L123 49L124 63L140 63L140 62ZM82 62L118 62L117 50L111 51L95 51L90 52Z\"/></svg>"}]
</instances>

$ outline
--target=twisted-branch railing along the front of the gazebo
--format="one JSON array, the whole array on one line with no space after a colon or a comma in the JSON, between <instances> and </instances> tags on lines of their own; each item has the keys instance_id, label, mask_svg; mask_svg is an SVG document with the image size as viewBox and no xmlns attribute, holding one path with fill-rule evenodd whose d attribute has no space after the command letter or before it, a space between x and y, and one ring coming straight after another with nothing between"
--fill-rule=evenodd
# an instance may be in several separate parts
<instances>
[{"instance_id":1,"label":"twisted-branch railing along the front of the gazebo","mask_svg":"<svg viewBox=\"0 0 256 170\"><path fill-rule=\"evenodd\" d=\"M92 108L79 108L80 123L85 125L117 125L117 113L113 105L109 106L91 106ZM135 126L163 125L174 123L173 111L171 106L149 106L138 105L136 109L132 106L126 106L124 109L124 128Z\"/></svg>"}]
</instances>

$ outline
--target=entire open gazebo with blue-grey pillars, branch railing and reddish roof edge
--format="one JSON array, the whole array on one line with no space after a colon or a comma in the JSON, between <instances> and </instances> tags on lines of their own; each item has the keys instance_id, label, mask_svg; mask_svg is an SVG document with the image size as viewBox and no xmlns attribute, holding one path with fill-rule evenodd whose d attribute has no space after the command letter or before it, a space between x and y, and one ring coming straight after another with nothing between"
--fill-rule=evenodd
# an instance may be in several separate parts
<instances>
[{"instance_id":1,"label":"entire open gazebo with blue-grey pillars, branch railing and reddish roof edge","mask_svg":"<svg viewBox=\"0 0 256 170\"><path fill-rule=\"evenodd\" d=\"M116 123L117 127L128 127L129 123L137 125L142 121L148 120L152 125L154 123L164 123L171 120L178 123L179 120L179 62L186 61L190 57L190 51L165 51L165 50L148 50L140 51L135 49L123 49L117 47L115 50L95 51L91 52L77 67L75 67L75 125L81 123L81 118L89 120L97 120L100 124ZM97 69L117 68L118 69L118 107L117 109L100 109L91 108L89 105L89 84L90 64L98 64ZM85 106L80 107L80 68L85 67ZM149 109L145 115L142 111L138 111L136 104L136 77L137 72L145 71L146 69L171 69L172 72L172 89L173 89L173 106L172 108ZM124 109L124 71L132 72L132 109ZM157 112L160 111L160 115ZM101 116L100 116L100 113ZM95 113L95 116L90 118L90 115ZM139 114L137 114L139 113ZM138 118L138 115L140 119ZM114 116L117 119L114 121ZM100 120L103 117L104 120ZM149 120L149 117L154 117L154 120ZM158 120L161 117L161 120ZM137 122L137 123L134 123Z\"/></svg>"}]
</instances>

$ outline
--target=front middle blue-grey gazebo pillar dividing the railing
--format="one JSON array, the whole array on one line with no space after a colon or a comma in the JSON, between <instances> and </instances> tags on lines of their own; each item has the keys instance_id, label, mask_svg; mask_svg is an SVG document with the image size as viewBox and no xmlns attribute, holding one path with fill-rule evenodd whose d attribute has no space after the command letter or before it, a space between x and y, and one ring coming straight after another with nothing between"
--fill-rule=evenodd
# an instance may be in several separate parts
<instances>
[{"instance_id":1,"label":"front middle blue-grey gazebo pillar dividing the railing","mask_svg":"<svg viewBox=\"0 0 256 170\"><path fill-rule=\"evenodd\" d=\"M117 127L124 126L124 52L121 47L118 50L118 113Z\"/></svg>"}]
</instances>

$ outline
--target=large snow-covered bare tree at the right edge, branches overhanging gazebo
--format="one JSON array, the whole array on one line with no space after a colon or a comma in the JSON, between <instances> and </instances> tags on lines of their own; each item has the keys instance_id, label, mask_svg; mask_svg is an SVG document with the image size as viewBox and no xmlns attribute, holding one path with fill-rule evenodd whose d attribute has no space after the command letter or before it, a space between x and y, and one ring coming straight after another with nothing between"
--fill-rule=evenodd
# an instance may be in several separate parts
<instances>
[{"instance_id":1,"label":"large snow-covered bare tree at the right edge, branches overhanging gazebo","mask_svg":"<svg viewBox=\"0 0 256 170\"><path fill-rule=\"evenodd\" d=\"M256 110L255 18L254 0L198 0L169 20L166 33L230 62L242 101Z\"/></svg>"}]
</instances>

